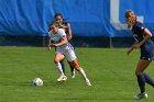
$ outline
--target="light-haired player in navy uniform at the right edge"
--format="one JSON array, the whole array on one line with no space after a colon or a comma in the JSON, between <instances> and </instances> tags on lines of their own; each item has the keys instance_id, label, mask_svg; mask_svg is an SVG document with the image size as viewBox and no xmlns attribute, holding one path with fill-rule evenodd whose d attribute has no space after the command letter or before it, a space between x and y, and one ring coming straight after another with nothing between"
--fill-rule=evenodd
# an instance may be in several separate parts
<instances>
[{"instance_id":1,"label":"light-haired player in navy uniform at the right edge","mask_svg":"<svg viewBox=\"0 0 154 102\"><path fill-rule=\"evenodd\" d=\"M144 70L154 59L154 43L151 39L152 33L141 22L136 21L136 15L133 11L127 11L124 18L128 23L128 27L132 30L133 37L136 41L127 52L127 54L130 55L130 53L136 48L141 49L141 56L135 69L135 76L141 92L139 94L135 94L134 99L144 99L147 98L147 93L145 91L145 83L154 87L154 80L144 72Z\"/></svg>"}]
</instances>

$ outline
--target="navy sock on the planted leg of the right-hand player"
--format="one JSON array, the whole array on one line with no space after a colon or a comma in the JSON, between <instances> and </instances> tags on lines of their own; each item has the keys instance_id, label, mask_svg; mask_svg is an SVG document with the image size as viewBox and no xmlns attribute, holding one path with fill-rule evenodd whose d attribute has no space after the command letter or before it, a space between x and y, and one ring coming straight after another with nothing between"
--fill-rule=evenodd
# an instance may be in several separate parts
<instances>
[{"instance_id":1,"label":"navy sock on the planted leg of the right-hand player","mask_svg":"<svg viewBox=\"0 0 154 102\"><path fill-rule=\"evenodd\" d=\"M145 92L145 78L143 73L138 76L138 83L139 83L141 93L144 93Z\"/></svg>"}]
</instances>

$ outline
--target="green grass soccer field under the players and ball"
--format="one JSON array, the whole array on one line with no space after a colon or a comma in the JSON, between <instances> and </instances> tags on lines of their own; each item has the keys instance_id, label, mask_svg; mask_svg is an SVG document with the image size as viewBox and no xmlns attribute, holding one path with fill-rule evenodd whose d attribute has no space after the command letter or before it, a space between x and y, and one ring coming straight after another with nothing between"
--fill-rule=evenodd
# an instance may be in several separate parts
<instances>
[{"instance_id":1,"label":"green grass soccer field under the players and ball","mask_svg":"<svg viewBox=\"0 0 154 102\"><path fill-rule=\"evenodd\" d=\"M85 84L76 71L70 78L68 64L66 82L56 82L58 72L53 64L54 49L45 47L0 47L0 102L138 102L133 95L139 91L134 69L139 50L129 57L127 48L76 48L79 64L91 80ZM146 72L154 78L154 63ZM32 87L40 77L43 87ZM146 86L153 102L154 89Z\"/></svg>"}]
</instances>

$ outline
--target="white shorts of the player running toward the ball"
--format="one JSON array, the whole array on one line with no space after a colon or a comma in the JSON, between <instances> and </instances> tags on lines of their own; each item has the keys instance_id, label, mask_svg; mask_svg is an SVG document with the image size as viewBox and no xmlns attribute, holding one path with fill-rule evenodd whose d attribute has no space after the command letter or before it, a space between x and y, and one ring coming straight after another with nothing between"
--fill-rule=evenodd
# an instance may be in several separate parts
<instances>
[{"instance_id":1,"label":"white shorts of the player running toward the ball","mask_svg":"<svg viewBox=\"0 0 154 102\"><path fill-rule=\"evenodd\" d=\"M73 61L77 58L74 48L69 46L65 48L56 48L56 53L63 54L68 61Z\"/></svg>"}]
</instances>

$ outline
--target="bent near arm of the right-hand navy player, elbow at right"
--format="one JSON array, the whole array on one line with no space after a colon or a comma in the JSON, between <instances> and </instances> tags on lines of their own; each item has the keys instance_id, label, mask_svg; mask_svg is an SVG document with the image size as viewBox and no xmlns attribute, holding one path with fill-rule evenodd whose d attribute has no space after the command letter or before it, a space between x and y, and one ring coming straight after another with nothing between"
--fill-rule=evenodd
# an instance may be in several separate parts
<instances>
[{"instance_id":1,"label":"bent near arm of the right-hand navy player, elbow at right","mask_svg":"<svg viewBox=\"0 0 154 102\"><path fill-rule=\"evenodd\" d=\"M153 36L152 33L147 29L144 29L144 34L145 34L145 37L140 43L133 45L133 48L140 48L141 45L143 45L148 38Z\"/></svg>"}]
</instances>

